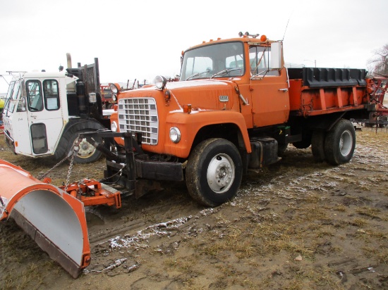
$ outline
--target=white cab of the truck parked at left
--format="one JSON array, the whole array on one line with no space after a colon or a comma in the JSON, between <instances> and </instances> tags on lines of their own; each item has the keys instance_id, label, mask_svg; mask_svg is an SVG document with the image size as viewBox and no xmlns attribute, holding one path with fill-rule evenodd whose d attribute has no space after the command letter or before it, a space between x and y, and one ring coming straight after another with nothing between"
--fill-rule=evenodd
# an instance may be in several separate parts
<instances>
[{"instance_id":1,"label":"white cab of the truck parked at left","mask_svg":"<svg viewBox=\"0 0 388 290\"><path fill-rule=\"evenodd\" d=\"M66 84L74 82L65 73L25 73L8 88L4 108L4 133L15 153L27 156L51 155L68 120ZM23 92L23 94L22 94Z\"/></svg>"}]
</instances>

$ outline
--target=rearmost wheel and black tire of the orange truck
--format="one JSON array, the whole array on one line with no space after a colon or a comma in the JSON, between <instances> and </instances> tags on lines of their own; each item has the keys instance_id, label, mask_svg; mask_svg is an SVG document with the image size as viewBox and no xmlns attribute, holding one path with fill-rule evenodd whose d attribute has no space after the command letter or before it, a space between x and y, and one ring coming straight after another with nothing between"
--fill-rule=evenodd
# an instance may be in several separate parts
<instances>
[{"instance_id":1,"label":"rearmost wheel and black tire of the orange truck","mask_svg":"<svg viewBox=\"0 0 388 290\"><path fill-rule=\"evenodd\" d=\"M325 156L328 163L339 165L348 163L356 146L356 130L349 120L339 120L325 139Z\"/></svg>"}]
</instances>

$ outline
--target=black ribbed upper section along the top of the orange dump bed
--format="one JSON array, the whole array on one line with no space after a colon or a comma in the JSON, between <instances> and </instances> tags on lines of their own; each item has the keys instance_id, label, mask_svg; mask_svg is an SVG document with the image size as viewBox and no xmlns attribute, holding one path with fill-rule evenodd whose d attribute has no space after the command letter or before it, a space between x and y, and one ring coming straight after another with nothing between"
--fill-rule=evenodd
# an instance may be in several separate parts
<instances>
[{"instance_id":1,"label":"black ribbed upper section along the top of the orange dump bed","mask_svg":"<svg viewBox=\"0 0 388 290\"><path fill-rule=\"evenodd\" d=\"M365 86L366 70L356 68L288 68L290 80L308 87Z\"/></svg>"}]
</instances>

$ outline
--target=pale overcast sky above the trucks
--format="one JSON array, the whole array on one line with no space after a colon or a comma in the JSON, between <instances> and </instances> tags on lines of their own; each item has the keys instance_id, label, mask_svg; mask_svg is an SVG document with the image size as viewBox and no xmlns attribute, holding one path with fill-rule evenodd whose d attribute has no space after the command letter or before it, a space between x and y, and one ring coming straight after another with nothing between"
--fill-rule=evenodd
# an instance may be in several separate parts
<instances>
[{"instance_id":1,"label":"pale overcast sky above the trucks","mask_svg":"<svg viewBox=\"0 0 388 290\"><path fill-rule=\"evenodd\" d=\"M69 52L73 67L99 58L101 82L152 82L180 73L181 51L240 31L286 32L286 63L367 68L388 44L387 12L387 0L0 0L0 75L57 71Z\"/></svg>"}]
</instances>

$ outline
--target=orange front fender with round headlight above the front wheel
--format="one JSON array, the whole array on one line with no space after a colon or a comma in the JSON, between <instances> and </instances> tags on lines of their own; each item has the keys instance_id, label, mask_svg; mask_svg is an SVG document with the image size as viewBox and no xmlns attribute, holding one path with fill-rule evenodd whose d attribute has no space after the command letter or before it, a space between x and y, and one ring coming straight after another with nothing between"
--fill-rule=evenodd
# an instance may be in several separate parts
<instances>
[{"instance_id":1,"label":"orange front fender with round headlight above the front wheel","mask_svg":"<svg viewBox=\"0 0 388 290\"><path fill-rule=\"evenodd\" d=\"M241 113L235 111L192 111L191 113L175 112L167 115L165 153L187 158L195 136L202 127L226 123L238 127L246 151L252 152L245 119ZM181 131L181 141L178 144L173 144L169 139L169 128L171 127L178 127Z\"/></svg>"}]
</instances>

